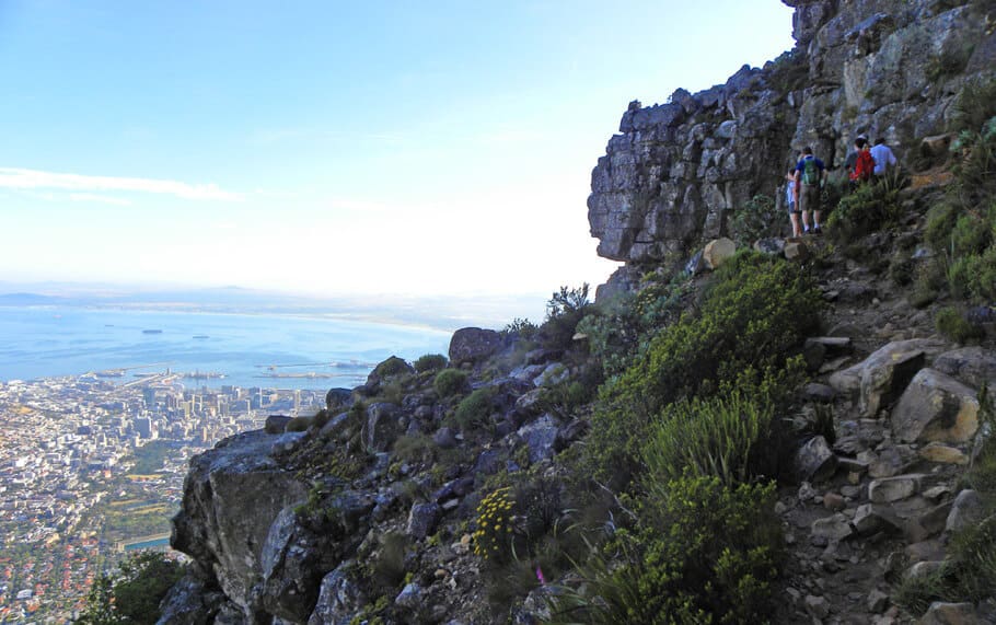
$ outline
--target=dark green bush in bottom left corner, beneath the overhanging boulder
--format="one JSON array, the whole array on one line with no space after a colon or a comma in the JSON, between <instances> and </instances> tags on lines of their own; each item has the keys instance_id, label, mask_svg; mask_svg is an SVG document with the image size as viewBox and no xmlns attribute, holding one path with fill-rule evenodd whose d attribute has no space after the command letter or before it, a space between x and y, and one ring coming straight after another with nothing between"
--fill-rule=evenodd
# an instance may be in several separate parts
<instances>
[{"instance_id":1,"label":"dark green bush in bottom left corner, beneath the overhanging boulder","mask_svg":"<svg viewBox=\"0 0 996 625\"><path fill-rule=\"evenodd\" d=\"M183 577L185 567L157 552L138 552L102 575L86 599L78 623L137 623L152 625L160 617L159 604Z\"/></svg>"}]
</instances>

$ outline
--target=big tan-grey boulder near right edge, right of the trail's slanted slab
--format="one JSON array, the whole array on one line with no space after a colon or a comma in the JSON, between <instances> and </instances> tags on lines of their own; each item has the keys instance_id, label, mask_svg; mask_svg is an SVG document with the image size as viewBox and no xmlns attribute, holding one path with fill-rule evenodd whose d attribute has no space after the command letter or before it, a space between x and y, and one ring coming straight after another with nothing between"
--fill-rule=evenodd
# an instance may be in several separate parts
<instances>
[{"instance_id":1,"label":"big tan-grey boulder near right edge, right of the trail's slanted slab","mask_svg":"<svg viewBox=\"0 0 996 625\"><path fill-rule=\"evenodd\" d=\"M934 369L919 371L892 410L899 440L965 442L978 430L975 391Z\"/></svg>"}]
</instances>

